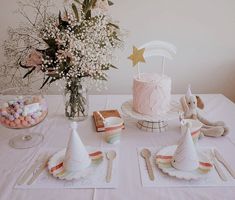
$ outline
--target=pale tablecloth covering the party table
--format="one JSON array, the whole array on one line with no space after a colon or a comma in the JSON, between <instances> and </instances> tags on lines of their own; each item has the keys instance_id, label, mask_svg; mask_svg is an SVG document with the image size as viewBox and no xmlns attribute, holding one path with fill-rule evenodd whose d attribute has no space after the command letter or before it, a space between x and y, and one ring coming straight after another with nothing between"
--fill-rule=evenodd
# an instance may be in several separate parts
<instances>
[{"instance_id":1,"label":"pale tablecloth covering the party table","mask_svg":"<svg viewBox=\"0 0 235 200\"><path fill-rule=\"evenodd\" d=\"M206 109L204 115L211 120L223 120L230 128L230 134L221 138L203 138L201 146L217 147L224 157L235 167L235 105L220 94L201 95ZM41 124L26 130L11 130L0 127L0 200L39 200L39 199L81 199L81 200L143 200L143 199L235 199L235 187L179 187L143 188L140 180L137 147L175 144L179 139L177 120L169 123L165 133L147 133L139 130L132 120L126 120L119 148L119 186L117 189L14 189L18 176L27 163L41 148L64 148L69 136L69 123L64 117L61 96L46 96L49 114ZM90 114L94 110L117 108L129 100L130 95L90 96ZM179 95L174 95L175 99ZM35 148L16 150L8 145L13 136L26 131L41 132L44 142ZM78 132L82 141L89 146L110 147L95 132L93 119L79 123ZM157 177L156 177L157 178Z\"/></svg>"}]
</instances>

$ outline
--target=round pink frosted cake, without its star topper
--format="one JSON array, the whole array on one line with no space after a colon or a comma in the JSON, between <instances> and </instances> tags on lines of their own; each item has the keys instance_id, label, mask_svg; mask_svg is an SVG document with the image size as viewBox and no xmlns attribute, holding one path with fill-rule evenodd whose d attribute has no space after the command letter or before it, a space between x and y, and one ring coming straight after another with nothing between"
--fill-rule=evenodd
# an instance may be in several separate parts
<instances>
[{"instance_id":1,"label":"round pink frosted cake, without its star topper","mask_svg":"<svg viewBox=\"0 0 235 200\"><path fill-rule=\"evenodd\" d=\"M134 77L134 111L156 116L169 110L171 100L171 78L166 75L143 73Z\"/></svg>"}]
</instances>

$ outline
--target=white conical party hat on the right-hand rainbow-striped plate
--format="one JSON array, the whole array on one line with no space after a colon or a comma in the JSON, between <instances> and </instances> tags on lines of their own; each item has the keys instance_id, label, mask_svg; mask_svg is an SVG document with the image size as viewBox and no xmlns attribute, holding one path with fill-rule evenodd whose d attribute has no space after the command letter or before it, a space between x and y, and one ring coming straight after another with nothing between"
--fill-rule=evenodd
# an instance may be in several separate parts
<instances>
[{"instance_id":1,"label":"white conical party hat on the right-hand rainbow-striped plate","mask_svg":"<svg viewBox=\"0 0 235 200\"><path fill-rule=\"evenodd\" d=\"M198 168L199 161L190 132L190 123L187 123L186 126L186 133L176 148L171 164L176 169L192 171Z\"/></svg>"}]
</instances>

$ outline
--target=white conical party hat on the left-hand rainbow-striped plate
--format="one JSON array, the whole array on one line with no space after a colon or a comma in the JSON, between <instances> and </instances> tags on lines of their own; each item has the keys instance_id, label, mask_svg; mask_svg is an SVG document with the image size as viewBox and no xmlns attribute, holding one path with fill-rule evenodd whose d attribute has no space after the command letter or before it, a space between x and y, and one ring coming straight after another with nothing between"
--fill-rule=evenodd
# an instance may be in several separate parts
<instances>
[{"instance_id":1,"label":"white conical party hat on the left-hand rainbow-striped plate","mask_svg":"<svg viewBox=\"0 0 235 200\"><path fill-rule=\"evenodd\" d=\"M65 171L75 172L87 168L91 159L89 154L82 143L79 135L77 134L76 122L71 123L72 132L67 145L63 166Z\"/></svg>"}]
</instances>

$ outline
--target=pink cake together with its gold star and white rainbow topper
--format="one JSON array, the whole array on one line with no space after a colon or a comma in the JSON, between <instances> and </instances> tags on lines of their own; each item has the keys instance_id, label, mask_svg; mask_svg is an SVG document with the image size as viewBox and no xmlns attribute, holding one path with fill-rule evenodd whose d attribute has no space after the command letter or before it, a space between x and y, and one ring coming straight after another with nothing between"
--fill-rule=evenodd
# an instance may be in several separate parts
<instances>
[{"instance_id":1,"label":"pink cake together with its gold star and white rainbow topper","mask_svg":"<svg viewBox=\"0 0 235 200\"><path fill-rule=\"evenodd\" d=\"M129 56L138 74L133 80L133 110L150 116L157 116L169 110L171 101L171 78L164 73L165 59L172 59L176 48L167 42L152 41L140 48L133 47ZM139 62L153 56L162 57L162 73L141 73Z\"/></svg>"}]
</instances>

